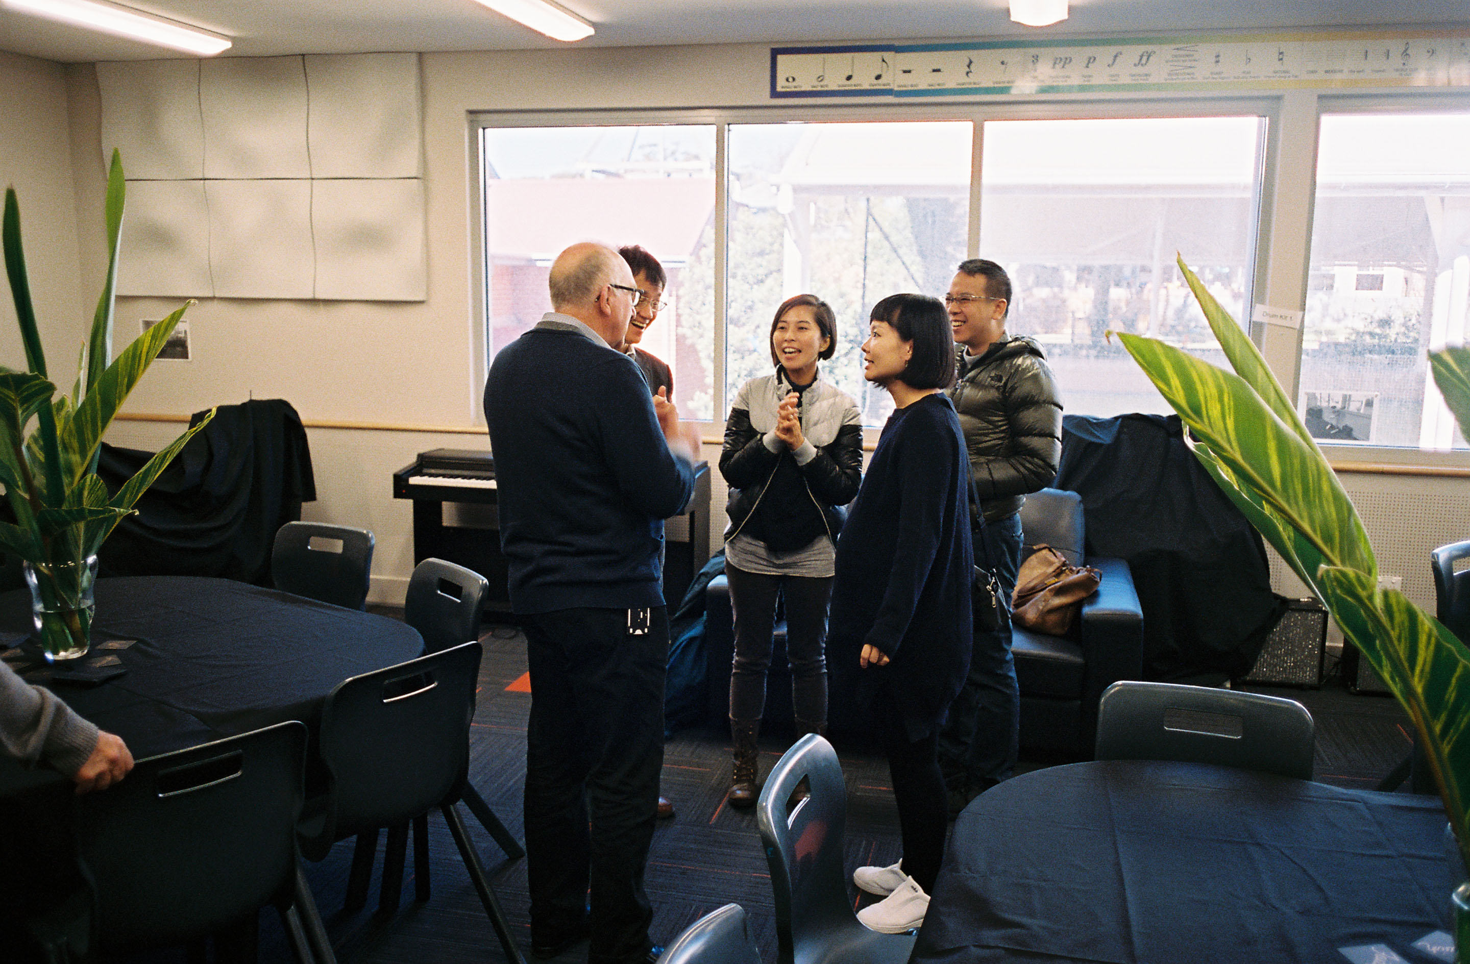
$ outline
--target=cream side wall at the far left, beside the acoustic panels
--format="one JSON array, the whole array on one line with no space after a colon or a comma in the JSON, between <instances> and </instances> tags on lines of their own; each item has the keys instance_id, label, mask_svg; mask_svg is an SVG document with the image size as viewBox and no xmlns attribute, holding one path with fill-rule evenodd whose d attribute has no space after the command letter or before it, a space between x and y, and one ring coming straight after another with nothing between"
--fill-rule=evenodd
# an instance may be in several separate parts
<instances>
[{"instance_id":1,"label":"cream side wall at the far left, beside the acoustic panels","mask_svg":"<svg viewBox=\"0 0 1470 964\"><path fill-rule=\"evenodd\" d=\"M97 292L78 288L65 69L0 53L0 104L4 104L0 187L15 187L19 200L31 301L50 362L47 372L63 389L71 389L76 351L90 329ZM9 282L0 282L0 364L25 369Z\"/></svg>"}]
</instances>

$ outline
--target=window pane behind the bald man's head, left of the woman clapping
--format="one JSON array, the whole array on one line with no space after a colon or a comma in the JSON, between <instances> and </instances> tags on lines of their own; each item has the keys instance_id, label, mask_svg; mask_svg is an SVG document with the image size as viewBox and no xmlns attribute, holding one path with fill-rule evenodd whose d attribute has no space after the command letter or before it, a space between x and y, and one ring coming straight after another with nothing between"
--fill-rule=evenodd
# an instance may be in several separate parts
<instances>
[{"instance_id":1,"label":"window pane behind the bald man's head, left of the woman clapping","mask_svg":"<svg viewBox=\"0 0 1470 964\"><path fill-rule=\"evenodd\" d=\"M669 287L639 348L673 370L682 414L713 417L714 128L485 128L481 145L488 354L551 309L562 248L641 244Z\"/></svg>"}]
</instances>

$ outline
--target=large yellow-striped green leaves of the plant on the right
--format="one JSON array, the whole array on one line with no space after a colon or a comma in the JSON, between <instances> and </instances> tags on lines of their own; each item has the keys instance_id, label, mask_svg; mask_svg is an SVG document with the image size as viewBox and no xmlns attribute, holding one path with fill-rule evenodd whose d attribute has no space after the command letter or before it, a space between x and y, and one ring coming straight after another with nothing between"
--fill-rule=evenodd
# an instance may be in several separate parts
<instances>
[{"instance_id":1,"label":"large yellow-striped green leaves of the plant on the right","mask_svg":"<svg viewBox=\"0 0 1470 964\"><path fill-rule=\"evenodd\" d=\"M1185 442L1205 472L1322 600L1408 713L1470 867L1470 650L1402 592L1379 588L1363 522L1266 359L1182 257L1179 269L1235 373L1152 338L1119 338L1188 426ZM1467 431L1470 353L1436 353L1430 363ZM1455 960L1470 964L1470 885L1454 901Z\"/></svg>"}]
</instances>

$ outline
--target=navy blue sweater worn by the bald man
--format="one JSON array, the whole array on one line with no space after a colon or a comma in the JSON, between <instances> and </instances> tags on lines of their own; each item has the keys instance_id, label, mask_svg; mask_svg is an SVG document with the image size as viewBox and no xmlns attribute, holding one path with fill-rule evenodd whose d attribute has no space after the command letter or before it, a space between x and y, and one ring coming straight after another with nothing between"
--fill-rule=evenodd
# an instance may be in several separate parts
<instances>
[{"instance_id":1,"label":"navy blue sweater worn by the bald man","mask_svg":"<svg viewBox=\"0 0 1470 964\"><path fill-rule=\"evenodd\" d=\"M548 320L485 381L510 605L663 605L663 520L689 501L694 469L669 451L634 360Z\"/></svg>"}]
</instances>

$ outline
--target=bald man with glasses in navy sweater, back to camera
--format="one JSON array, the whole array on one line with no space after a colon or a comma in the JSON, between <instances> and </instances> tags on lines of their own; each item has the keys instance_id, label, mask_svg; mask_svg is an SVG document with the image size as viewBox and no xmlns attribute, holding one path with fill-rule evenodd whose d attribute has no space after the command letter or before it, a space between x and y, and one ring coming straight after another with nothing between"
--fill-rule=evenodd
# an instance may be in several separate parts
<instances>
[{"instance_id":1,"label":"bald man with glasses in navy sweater, back to camera","mask_svg":"<svg viewBox=\"0 0 1470 964\"><path fill-rule=\"evenodd\" d=\"M616 350L639 297L616 251L572 245L550 288L556 310L485 382L531 661L531 951L556 957L591 935L588 964L642 964L662 952L644 892L669 654L659 550L663 519L694 492L698 435Z\"/></svg>"}]
</instances>

